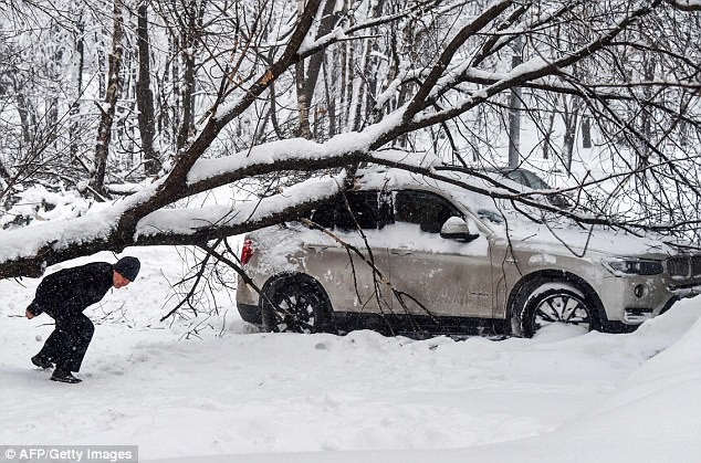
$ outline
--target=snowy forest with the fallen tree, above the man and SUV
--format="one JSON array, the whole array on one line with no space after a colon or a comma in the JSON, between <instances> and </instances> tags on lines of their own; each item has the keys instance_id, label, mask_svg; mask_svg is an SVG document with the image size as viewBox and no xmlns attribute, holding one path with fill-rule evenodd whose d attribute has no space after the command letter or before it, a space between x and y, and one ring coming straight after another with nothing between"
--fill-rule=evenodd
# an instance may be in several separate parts
<instances>
[{"instance_id":1,"label":"snowy forest with the fallen tree, above the man and SUV","mask_svg":"<svg viewBox=\"0 0 701 463\"><path fill-rule=\"evenodd\" d=\"M0 276L135 244L228 255L228 236L334 194L321 183L329 171L349 178L373 161L440 176L414 152L442 168L525 166L567 191L574 206L559 213L582 223L698 242L700 10L697 0L2 2L0 223L50 219L65 198L75 217L113 206L60 239L52 228L6 232ZM226 185L227 208L187 201ZM291 185L299 193L280 192ZM265 200L247 209L242 193ZM557 212L513 190L494 196Z\"/></svg>"}]
</instances>

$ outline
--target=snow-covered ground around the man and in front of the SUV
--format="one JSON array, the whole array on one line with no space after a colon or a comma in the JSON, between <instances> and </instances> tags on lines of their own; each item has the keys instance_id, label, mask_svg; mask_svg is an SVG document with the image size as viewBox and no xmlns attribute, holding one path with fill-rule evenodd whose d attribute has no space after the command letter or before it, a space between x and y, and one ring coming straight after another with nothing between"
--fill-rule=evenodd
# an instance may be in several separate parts
<instances>
[{"instance_id":1,"label":"snow-covered ground around the man and in front of the SUV","mask_svg":"<svg viewBox=\"0 0 701 463\"><path fill-rule=\"evenodd\" d=\"M176 252L128 253L142 274L86 312L80 385L29 362L52 329L22 317L39 281L0 282L0 444L136 444L170 463L701 461L701 297L630 335L261 334L230 305L185 338L158 322Z\"/></svg>"}]
</instances>

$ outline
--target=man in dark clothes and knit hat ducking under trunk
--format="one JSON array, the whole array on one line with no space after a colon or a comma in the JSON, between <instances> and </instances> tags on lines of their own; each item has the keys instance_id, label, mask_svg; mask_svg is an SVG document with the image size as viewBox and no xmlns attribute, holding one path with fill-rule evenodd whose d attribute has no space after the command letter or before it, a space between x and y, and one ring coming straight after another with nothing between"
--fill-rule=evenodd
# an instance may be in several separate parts
<instances>
[{"instance_id":1,"label":"man in dark clothes and knit hat ducking under trunk","mask_svg":"<svg viewBox=\"0 0 701 463\"><path fill-rule=\"evenodd\" d=\"M93 262L46 276L39 284L25 315L32 319L45 313L55 320L56 326L41 351L32 357L32 364L51 368L55 362L51 380L81 382L72 371L80 371L95 332L95 326L83 311L102 301L111 287L121 288L133 282L140 266L138 259L127 256L114 265Z\"/></svg>"}]
</instances>

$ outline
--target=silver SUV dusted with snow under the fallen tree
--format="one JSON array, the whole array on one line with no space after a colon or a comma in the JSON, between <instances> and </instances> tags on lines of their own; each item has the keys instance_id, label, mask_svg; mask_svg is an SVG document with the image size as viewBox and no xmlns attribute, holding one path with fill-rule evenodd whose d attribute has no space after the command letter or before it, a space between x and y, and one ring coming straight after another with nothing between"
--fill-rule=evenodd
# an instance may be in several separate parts
<instances>
[{"instance_id":1,"label":"silver SUV dusted with snow under the fallen tree","mask_svg":"<svg viewBox=\"0 0 701 463\"><path fill-rule=\"evenodd\" d=\"M364 172L300 222L247 235L242 262L241 317L280 332L621 332L701 291L701 254L659 236L524 213L394 169Z\"/></svg>"}]
</instances>

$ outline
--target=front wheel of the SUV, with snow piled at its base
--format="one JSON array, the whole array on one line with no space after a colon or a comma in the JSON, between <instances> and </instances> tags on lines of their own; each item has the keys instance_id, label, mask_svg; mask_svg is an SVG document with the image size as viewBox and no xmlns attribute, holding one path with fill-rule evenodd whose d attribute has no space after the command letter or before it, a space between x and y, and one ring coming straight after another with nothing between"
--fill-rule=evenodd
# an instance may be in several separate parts
<instances>
[{"instance_id":1,"label":"front wheel of the SUV, with snow piled at its base","mask_svg":"<svg viewBox=\"0 0 701 463\"><path fill-rule=\"evenodd\" d=\"M526 292L525 301L519 306L522 307L521 334L525 337L533 337L538 329L554 324L576 325L587 332L598 326L595 304L568 283L541 284Z\"/></svg>"}]
</instances>

